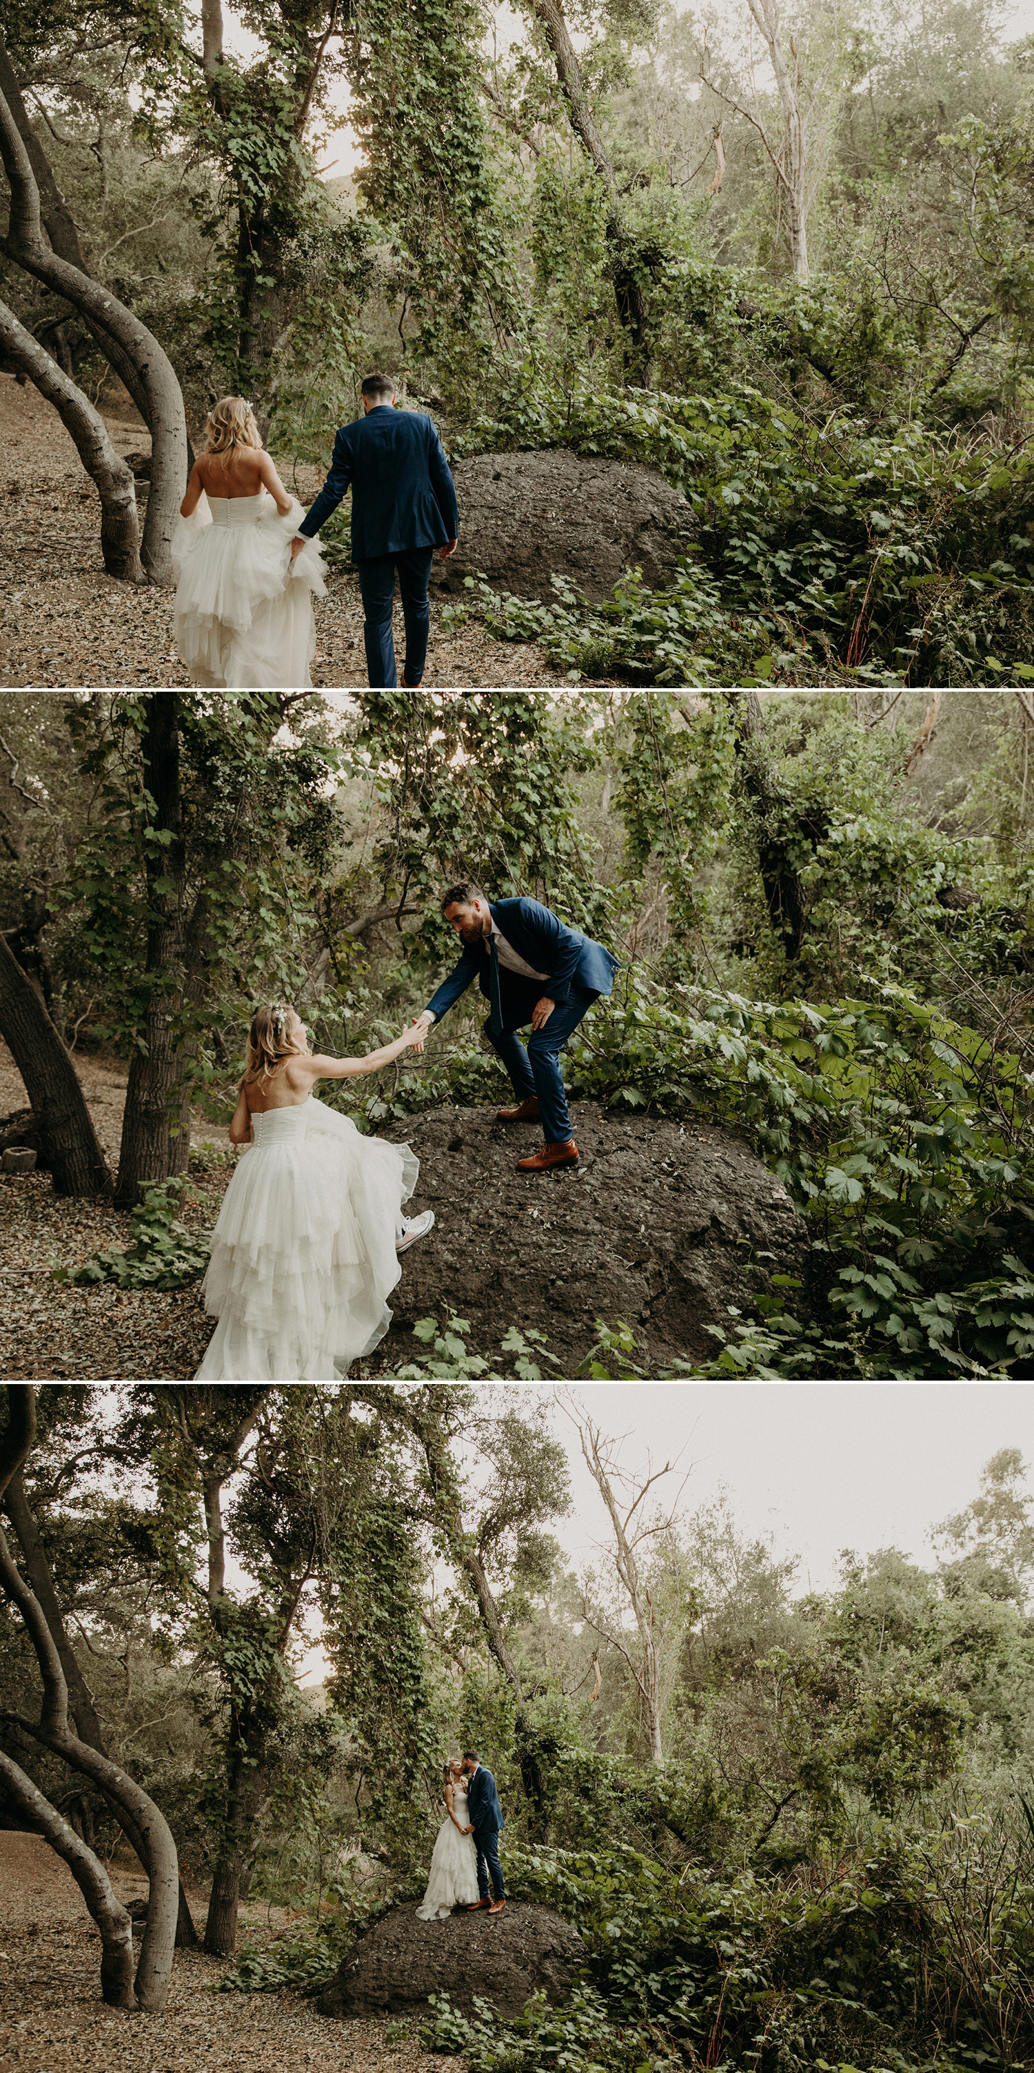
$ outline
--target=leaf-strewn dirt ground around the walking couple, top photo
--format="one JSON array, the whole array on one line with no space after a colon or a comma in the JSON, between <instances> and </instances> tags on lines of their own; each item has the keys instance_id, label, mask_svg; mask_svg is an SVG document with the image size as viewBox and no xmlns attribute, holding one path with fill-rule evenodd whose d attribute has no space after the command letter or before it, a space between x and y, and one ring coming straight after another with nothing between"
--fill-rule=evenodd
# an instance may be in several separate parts
<instances>
[{"instance_id":1,"label":"leaf-strewn dirt ground around the walking couple, top photo","mask_svg":"<svg viewBox=\"0 0 1034 2073\"><path fill-rule=\"evenodd\" d=\"M126 398L104 408L120 454L149 450L149 435ZM0 686L48 684L176 688L186 674L172 645L172 591L135 589L104 574L99 504L58 413L27 381L0 375L0 551L8 595L0 626ZM319 475L298 466L286 479L311 502ZM317 603L313 684L367 684L358 578L332 570L325 603ZM402 616L396 651L402 657ZM441 630L441 605L431 603L427 688L564 684L539 647L489 641L479 626L454 636Z\"/></svg>"}]
</instances>

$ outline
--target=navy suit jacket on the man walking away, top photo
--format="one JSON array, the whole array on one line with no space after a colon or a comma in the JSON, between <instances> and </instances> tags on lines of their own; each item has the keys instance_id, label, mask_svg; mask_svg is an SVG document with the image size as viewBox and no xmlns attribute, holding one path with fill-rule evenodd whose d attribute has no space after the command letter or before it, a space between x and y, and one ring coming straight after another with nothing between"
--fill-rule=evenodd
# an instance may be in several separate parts
<instances>
[{"instance_id":1,"label":"navy suit jacket on the man walking away, top photo","mask_svg":"<svg viewBox=\"0 0 1034 2073\"><path fill-rule=\"evenodd\" d=\"M307 539L352 485L352 562L410 547L443 547L460 533L456 485L446 448L423 410L379 402L354 425L342 425L334 462L298 533Z\"/></svg>"}]
</instances>

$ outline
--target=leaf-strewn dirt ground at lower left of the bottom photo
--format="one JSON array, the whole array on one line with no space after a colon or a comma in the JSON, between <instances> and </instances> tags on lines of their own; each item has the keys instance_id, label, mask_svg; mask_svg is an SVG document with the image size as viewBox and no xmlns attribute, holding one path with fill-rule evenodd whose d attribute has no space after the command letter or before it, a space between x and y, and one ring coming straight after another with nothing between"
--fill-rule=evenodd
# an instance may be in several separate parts
<instances>
[{"instance_id":1,"label":"leaf-strewn dirt ground at lower left of the bottom photo","mask_svg":"<svg viewBox=\"0 0 1034 2073\"><path fill-rule=\"evenodd\" d=\"M139 1872L112 1866L122 1901ZM66 1864L35 1835L0 1833L0 2067L23 2073L464 2073L421 2050L417 2025L385 2044L385 2021L332 2021L294 1994L218 1994L226 1959L176 1951L164 2015L126 2015L99 1998L99 1932ZM195 1922L205 1897L191 1893ZM265 1909L242 1909L263 1942ZM400 2025L396 2025L400 2027Z\"/></svg>"}]
</instances>

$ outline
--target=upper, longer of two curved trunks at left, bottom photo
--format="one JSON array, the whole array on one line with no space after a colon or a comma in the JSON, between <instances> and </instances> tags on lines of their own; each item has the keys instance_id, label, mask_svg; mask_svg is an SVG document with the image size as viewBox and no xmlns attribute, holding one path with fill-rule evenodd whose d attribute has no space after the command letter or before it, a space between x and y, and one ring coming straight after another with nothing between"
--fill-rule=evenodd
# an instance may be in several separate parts
<instances>
[{"instance_id":1,"label":"upper, longer of two curved trunks at left, bottom photo","mask_svg":"<svg viewBox=\"0 0 1034 2073\"><path fill-rule=\"evenodd\" d=\"M143 1791L135 1779L126 1777L118 1764L110 1758L99 1756L89 1743L81 1741L68 1729L68 1685L64 1681L64 1671L60 1665L60 1654L54 1636L44 1617L44 1609L35 1594L29 1590L21 1569L17 1567L10 1549L6 1544L6 1534L0 1528L0 1586L19 1607L19 1613L29 1631L29 1640L35 1648L35 1660L39 1665L39 1675L44 1679L44 1704L39 1710L39 1723L21 1719L19 1714L8 1714L23 1729L23 1733L33 1735L44 1748L54 1750L62 1756L73 1770L81 1770L83 1777L93 1779L95 1785L116 1799L120 1808L126 1810L131 1820L141 1830L147 1859L149 1859L149 1880L151 1891L147 1897L147 1926L143 1932L143 1947L137 1965L137 2000L141 2009L160 2011L168 1998L168 1982L172 1973L172 1951L176 1944L176 1911L178 1911L178 1884L180 1872L176 1862L176 1843L172 1841L172 1830L164 1814L155 1808L153 1799Z\"/></svg>"}]
</instances>

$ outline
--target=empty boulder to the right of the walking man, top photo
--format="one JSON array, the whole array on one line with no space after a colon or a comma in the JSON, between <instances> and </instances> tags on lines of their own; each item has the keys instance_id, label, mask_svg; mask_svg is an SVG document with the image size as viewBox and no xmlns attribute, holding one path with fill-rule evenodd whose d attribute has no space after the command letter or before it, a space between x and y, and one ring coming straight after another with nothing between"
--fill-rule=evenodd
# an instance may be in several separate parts
<instances>
[{"instance_id":1,"label":"empty boulder to the right of the walking man, top photo","mask_svg":"<svg viewBox=\"0 0 1034 2073\"><path fill-rule=\"evenodd\" d=\"M638 566L659 589L698 531L686 498L638 460L547 448L475 454L452 473L460 545L448 562L435 556L431 580L441 595L466 595L464 576L479 570L493 591L547 601L553 574L603 599Z\"/></svg>"}]
</instances>

